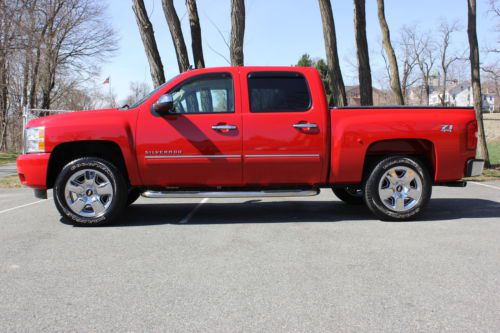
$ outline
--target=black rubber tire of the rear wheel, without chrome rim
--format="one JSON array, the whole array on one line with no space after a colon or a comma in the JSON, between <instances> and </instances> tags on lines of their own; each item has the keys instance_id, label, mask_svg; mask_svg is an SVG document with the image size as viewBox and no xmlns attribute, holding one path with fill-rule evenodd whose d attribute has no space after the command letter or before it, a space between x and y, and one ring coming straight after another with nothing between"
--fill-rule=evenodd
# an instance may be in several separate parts
<instances>
[{"instance_id":1,"label":"black rubber tire of the rear wheel, without chrome rim","mask_svg":"<svg viewBox=\"0 0 500 333\"><path fill-rule=\"evenodd\" d=\"M409 168L413 170L421 180L421 196L419 200L415 200L414 206L408 205L408 209L404 211L397 211L394 209L390 209L382 202L382 199L380 197L380 192L379 192L379 186L381 182L384 182L382 179L386 172L393 168ZM404 174L403 174L404 175ZM399 175L396 177L396 179L399 179ZM402 176L404 177L404 176ZM402 179L402 178L401 178ZM396 182L397 183L397 182ZM416 184L416 183L412 183ZM416 186L416 185L415 185ZM399 187L399 186L397 186ZM391 189L389 189L391 190ZM394 193L396 191L401 191L401 189L398 190L392 190ZM429 199L432 194L432 182L431 178L429 176L429 172L427 169L422 165L422 163L411 157L405 157L405 156L393 156L393 157L388 157L380 162L378 162L375 167L372 169L370 172L370 175L366 181L365 184L365 203L368 206L368 208L372 211L373 214L375 214L378 218L380 218L383 221L408 221L412 220L417 215L419 215L424 207L428 204ZM389 192L390 193L390 192ZM397 193L395 194L397 195ZM386 199L389 202L394 199ZM403 206L406 206L405 200L411 200L410 199L404 199L403 200ZM387 201L386 201L387 202ZM394 201L393 201L394 202ZM394 204L395 206L396 204ZM406 207L404 207L406 209Z\"/></svg>"}]
</instances>

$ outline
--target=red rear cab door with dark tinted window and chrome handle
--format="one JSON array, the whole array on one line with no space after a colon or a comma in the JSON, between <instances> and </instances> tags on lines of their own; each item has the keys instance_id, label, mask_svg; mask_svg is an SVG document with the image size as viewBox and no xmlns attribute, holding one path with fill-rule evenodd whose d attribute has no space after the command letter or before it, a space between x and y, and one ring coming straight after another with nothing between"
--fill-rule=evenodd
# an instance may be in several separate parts
<instances>
[{"instance_id":1,"label":"red rear cab door with dark tinted window and chrome handle","mask_svg":"<svg viewBox=\"0 0 500 333\"><path fill-rule=\"evenodd\" d=\"M324 181L326 106L313 101L306 77L299 71L243 68L240 81L245 184Z\"/></svg>"}]
</instances>

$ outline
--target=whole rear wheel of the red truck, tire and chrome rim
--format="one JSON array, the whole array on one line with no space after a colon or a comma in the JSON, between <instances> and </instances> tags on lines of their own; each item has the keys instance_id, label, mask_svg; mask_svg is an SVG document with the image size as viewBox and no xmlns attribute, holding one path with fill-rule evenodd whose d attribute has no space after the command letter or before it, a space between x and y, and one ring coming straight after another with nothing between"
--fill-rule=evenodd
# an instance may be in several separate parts
<instances>
[{"instance_id":1,"label":"whole rear wheel of the red truck, tire and chrome rim","mask_svg":"<svg viewBox=\"0 0 500 333\"><path fill-rule=\"evenodd\" d=\"M427 169L418 160L404 156L380 161L365 184L366 205L385 221L415 218L429 202L431 193Z\"/></svg>"}]
</instances>

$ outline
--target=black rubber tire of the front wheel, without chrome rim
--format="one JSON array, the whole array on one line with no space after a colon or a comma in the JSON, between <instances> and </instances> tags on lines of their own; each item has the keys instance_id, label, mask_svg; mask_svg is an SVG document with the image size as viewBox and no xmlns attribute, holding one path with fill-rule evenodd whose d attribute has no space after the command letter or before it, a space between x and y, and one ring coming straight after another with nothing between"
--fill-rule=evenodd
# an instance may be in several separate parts
<instances>
[{"instance_id":1,"label":"black rubber tire of the front wheel, without chrome rim","mask_svg":"<svg viewBox=\"0 0 500 333\"><path fill-rule=\"evenodd\" d=\"M70 209L65 198L65 187L70 177L86 169L102 173L109 179L109 183L112 186L113 198L109 206L104 210L102 215L95 217L75 214ZM98 226L111 223L120 215L127 203L128 189L122 173L113 164L100 158L83 157L64 166L55 181L53 193L57 210L64 219L78 226Z\"/></svg>"}]
</instances>

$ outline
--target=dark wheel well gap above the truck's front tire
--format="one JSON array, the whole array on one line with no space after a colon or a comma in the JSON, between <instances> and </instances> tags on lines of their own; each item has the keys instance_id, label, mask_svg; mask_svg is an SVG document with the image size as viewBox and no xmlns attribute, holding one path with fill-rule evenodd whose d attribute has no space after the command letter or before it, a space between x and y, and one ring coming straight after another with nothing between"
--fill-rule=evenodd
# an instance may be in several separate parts
<instances>
[{"instance_id":1,"label":"dark wheel well gap above the truck's front tire","mask_svg":"<svg viewBox=\"0 0 500 333\"><path fill-rule=\"evenodd\" d=\"M62 143L56 146L50 154L47 188L54 186L57 175L66 164L81 157L98 157L110 162L122 172L123 177L130 184L125 160L118 144L111 141L76 141Z\"/></svg>"}]
</instances>

